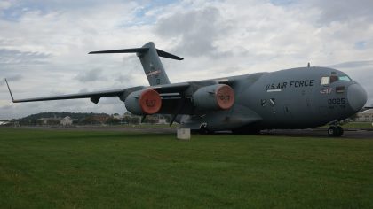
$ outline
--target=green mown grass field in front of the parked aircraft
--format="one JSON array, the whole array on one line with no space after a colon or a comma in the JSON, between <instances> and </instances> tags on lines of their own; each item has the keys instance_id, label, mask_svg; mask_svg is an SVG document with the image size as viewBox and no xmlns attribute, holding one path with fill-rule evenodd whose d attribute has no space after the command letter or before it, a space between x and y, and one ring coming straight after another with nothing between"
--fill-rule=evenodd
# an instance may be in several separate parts
<instances>
[{"instance_id":1,"label":"green mown grass field in front of the parked aircraft","mask_svg":"<svg viewBox=\"0 0 373 209\"><path fill-rule=\"evenodd\" d=\"M1 208L373 207L373 140L0 133Z\"/></svg>"}]
</instances>

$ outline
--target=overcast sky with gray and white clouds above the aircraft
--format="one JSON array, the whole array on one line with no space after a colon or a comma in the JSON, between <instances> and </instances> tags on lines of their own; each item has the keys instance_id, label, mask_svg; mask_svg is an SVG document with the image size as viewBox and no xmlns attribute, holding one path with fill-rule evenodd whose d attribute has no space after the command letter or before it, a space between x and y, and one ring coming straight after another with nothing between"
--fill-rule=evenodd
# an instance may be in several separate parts
<instances>
[{"instance_id":1,"label":"overcast sky with gray and white clouds above the aircraft","mask_svg":"<svg viewBox=\"0 0 373 209\"><path fill-rule=\"evenodd\" d=\"M12 104L41 97L148 85L133 54L91 50L148 41L171 82L290 67L333 66L358 81L373 103L373 1L0 0L0 119L38 112L123 113L118 98Z\"/></svg>"}]
</instances>

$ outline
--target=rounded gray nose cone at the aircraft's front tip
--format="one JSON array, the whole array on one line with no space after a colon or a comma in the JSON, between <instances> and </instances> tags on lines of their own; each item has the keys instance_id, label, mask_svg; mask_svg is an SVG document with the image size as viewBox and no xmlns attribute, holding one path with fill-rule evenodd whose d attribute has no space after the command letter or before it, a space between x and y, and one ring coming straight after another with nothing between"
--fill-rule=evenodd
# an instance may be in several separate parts
<instances>
[{"instance_id":1,"label":"rounded gray nose cone at the aircraft's front tip","mask_svg":"<svg viewBox=\"0 0 373 209\"><path fill-rule=\"evenodd\" d=\"M367 92L355 83L348 87L347 99L353 111L358 112L367 103Z\"/></svg>"}]
</instances>

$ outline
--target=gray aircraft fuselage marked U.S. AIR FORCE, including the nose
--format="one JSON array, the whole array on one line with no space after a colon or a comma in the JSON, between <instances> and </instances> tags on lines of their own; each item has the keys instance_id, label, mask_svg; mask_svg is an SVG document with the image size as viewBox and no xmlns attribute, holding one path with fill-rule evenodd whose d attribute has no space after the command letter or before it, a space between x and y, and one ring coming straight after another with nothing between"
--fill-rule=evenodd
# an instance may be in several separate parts
<instances>
[{"instance_id":1,"label":"gray aircraft fuselage marked U.S. AIR FORCE, including the nose","mask_svg":"<svg viewBox=\"0 0 373 209\"><path fill-rule=\"evenodd\" d=\"M180 119L183 126L194 129L195 124L204 124L210 131L313 128L345 120L367 101L357 82L327 67L299 67L226 80L235 92L234 106L184 116Z\"/></svg>"}]
</instances>

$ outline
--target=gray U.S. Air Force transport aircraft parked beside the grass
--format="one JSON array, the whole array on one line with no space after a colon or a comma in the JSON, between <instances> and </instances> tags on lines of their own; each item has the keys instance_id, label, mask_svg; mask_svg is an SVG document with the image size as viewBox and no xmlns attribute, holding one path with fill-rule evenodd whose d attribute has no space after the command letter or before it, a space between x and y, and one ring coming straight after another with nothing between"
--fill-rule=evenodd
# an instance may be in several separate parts
<instances>
[{"instance_id":1,"label":"gray U.S. Air Force transport aircraft parked beside the grass","mask_svg":"<svg viewBox=\"0 0 373 209\"><path fill-rule=\"evenodd\" d=\"M143 119L165 114L181 128L209 133L231 130L258 133L261 129L314 128L329 124L328 135L343 135L337 122L367 102L367 93L347 74L328 67L307 66L271 73L256 73L172 83L159 57L182 60L147 43L142 48L92 51L136 53L150 86L114 89L53 97L14 99L13 103L58 99L119 97L127 110Z\"/></svg>"}]
</instances>

